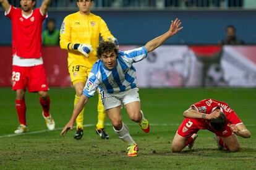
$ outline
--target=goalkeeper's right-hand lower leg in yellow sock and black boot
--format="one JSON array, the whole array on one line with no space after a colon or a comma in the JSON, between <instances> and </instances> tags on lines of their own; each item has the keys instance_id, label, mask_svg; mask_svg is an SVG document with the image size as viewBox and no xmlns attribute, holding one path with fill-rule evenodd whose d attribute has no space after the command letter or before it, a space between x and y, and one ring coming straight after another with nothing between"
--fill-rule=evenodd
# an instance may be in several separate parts
<instances>
[{"instance_id":1,"label":"goalkeeper's right-hand lower leg in yellow sock and black boot","mask_svg":"<svg viewBox=\"0 0 256 170\"><path fill-rule=\"evenodd\" d=\"M109 136L104 129L105 118L105 109L101 101L101 95L98 93L98 123L96 124L96 134L100 135L102 139L109 139Z\"/></svg>"}]
</instances>

